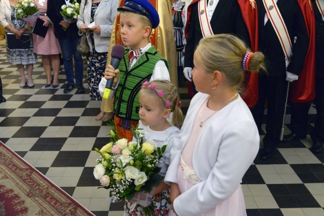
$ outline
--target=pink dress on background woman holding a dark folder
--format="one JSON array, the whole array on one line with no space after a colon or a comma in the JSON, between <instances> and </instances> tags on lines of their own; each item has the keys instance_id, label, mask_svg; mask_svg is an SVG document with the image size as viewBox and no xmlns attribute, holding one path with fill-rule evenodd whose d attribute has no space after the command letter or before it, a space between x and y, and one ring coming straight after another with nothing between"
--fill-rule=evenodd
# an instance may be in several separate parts
<instances>
[{"instance_id":1,"label":"pink dress on background woman holding a dark folder","mask_svg":"<svg viewBox=\"0 0 324 216\"><path fill-rule=\"evenodd\" d=\"M35 0L35 3L42 13L47 12L47 0ZM48 17L38 16L38 18L46 20ZM54 35L54 27L52 24L49 25L45 38L32 34L32 39L34 42L34 53L39 55L56 55L61 53L61 47Z\"/></svg>"}]
</instances>

